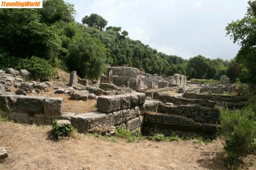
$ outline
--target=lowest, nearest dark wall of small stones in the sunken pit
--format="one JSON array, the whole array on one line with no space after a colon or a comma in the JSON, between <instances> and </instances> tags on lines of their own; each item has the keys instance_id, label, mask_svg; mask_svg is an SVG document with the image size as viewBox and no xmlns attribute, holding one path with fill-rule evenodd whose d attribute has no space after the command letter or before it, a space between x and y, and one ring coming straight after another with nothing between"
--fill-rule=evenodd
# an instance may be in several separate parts
<instances>
[{"instance_id":1,"label":"lowest, nearest dark wall of small stones in the sunken pit","mask_svg":"<svg viewBox=\"0 0 256 170\"><path fill-rule=\"evenodd\" d=\"M147 136L157 133L164 134L165 136L178 135L189 137L203 135L212 137L217 133L217 125L197 123L184 116L146 112L142 134Z\"/></svg>"}]
</instances>

